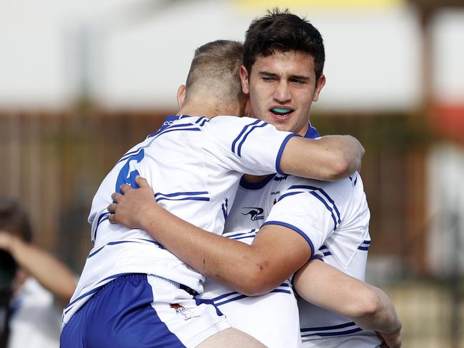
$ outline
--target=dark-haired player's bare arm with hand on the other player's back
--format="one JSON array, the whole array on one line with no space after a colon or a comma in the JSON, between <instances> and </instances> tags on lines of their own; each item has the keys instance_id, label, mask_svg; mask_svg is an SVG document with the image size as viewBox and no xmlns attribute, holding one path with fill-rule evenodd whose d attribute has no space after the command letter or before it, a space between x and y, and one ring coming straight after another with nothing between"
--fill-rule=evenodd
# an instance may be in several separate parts
<instances>
[{"instance_id":1,"label":"dark-haired player's bare arm with hand on the other player's back","mask_svg":"<svg viewBox=\"0 0 464 348\"><path fill-rule=\"evenodd\" d=\"M262 295L281 284L311 257L311 248L301 235L287 227L261 228L247 245L214 235L177 218L158 205L153 190L141 177L135 190L122 185L109 205L110 222L142 228L174 255L233 290Z\"/></svg>"}]
</instances>

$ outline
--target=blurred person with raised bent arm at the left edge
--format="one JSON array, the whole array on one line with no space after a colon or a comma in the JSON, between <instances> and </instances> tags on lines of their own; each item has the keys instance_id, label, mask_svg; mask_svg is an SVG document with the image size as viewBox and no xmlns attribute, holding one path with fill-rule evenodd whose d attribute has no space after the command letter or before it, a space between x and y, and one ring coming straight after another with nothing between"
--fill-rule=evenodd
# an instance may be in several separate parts
<instances>
[{"instance_id":1,"label":"blurred person with raised bent arm at the left edge","mask_svg":"<svg viewBox=\"0 0 464 348\"><path fill-rule=\"evenodd\" d=\"M76 287L73 273L31 240L21 205L0 198L0 348L58 347L59 307Z\"/></svg>"}]
</instances>

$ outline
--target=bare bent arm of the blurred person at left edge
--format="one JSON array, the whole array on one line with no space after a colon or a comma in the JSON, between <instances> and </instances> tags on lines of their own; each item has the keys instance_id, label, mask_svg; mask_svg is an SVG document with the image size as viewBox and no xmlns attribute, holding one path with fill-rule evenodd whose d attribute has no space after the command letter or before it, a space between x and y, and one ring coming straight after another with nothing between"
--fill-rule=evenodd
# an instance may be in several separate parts
<instances>
[{"instance_id":1,"label":"bare bent arm of the blurred person at left edge","mask_svg":"<svg viewBox=\"0 0 464 348\"><path fill-rule=\"evenodd\" d=\"M0 231L0 248L10 252L19 267L52 292L61 303L69 302L76 280L61 261L9 232Z\"/></svg>"}]
</instances>

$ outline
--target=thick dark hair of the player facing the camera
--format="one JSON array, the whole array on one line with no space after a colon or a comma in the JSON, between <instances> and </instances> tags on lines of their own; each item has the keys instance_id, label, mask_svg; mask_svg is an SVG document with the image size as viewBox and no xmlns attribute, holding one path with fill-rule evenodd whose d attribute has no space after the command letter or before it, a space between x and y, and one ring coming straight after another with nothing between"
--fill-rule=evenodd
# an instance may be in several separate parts
<instances>
[{"instance_id":1,"label":"thick dark hair of the player facing the camera","mask_svg":"<svg viewBox=\"0 0 464 348\"><path fill-rule=\"evenodd\" d=\"M251 73L257 56L271 56L276 51L311 54L316 81L321 77L326 61L321 33L306 18L291 14L288 9L281 11L276 8L253 19L243 44L243 65Z\"/></svg>"}]
</instances>

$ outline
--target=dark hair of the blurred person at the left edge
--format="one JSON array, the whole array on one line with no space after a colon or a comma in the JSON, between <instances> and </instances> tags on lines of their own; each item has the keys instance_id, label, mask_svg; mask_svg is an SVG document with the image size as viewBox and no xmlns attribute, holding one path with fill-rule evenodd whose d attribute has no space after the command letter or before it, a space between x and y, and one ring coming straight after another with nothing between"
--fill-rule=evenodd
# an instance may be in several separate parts
<instances>
[{"instance_id":1,"label":"dark hair of the blurred person at the left edge","mask_svg":"<svg viewBox=\"0 0 464 348\"><path fill-rule=\"evenodd\" d=\"M32 241L32 229L29 217L21 205L11 198L0 198L0 230Z\"/></svg>"}]
</instances>

